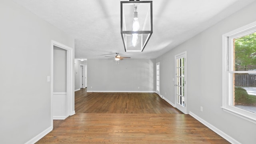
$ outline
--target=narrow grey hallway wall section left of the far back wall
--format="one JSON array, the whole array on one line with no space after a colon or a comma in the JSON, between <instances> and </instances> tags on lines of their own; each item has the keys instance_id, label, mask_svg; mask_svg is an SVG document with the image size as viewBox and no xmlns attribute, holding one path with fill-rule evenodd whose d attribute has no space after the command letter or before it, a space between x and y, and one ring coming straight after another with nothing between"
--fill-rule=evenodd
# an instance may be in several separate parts
<instances>
[{"instance_id":1,"label":"narrow grey hallway wall section left of the far back wall","mask_svg":"<svg viewBox=\"0 0 256 144\"><path fill-rule=\"evenodd\" d=\"M87 66L87 60L75 59L75 90L80 90L80 64ZM87 71L85 72L87 73Z\"/></svg>"}]
</instances>

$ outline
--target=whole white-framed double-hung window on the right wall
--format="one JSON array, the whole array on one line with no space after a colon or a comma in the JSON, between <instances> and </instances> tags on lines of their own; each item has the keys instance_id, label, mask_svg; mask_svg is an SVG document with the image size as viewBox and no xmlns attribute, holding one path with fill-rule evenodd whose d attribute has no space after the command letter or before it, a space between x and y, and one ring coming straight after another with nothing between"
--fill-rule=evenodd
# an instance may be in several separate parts
<instances>
[{"instance_id":1,"label":"whole white-framed double-hung window on the right wall","mask_svg":"<svg viewBox=\"0 0 256 144\"><path fill-rule=\"evenodd\" d=\"M223 35L222 108L256 123L256 22Z\"/></svg>"}]
</instances>

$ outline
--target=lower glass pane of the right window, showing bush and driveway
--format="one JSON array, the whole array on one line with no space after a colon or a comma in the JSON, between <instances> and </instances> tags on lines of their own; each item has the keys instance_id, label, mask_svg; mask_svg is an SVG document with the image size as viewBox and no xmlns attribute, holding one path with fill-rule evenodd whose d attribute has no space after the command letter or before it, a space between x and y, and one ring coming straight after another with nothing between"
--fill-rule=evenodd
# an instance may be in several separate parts
<instances>
[{"instance_id":1,"label":"lower glass pane of the right window, showing bush and driveway","mask_svg":"<svg viewBox=\"0 0 256 144\"><path fill-rule=\"evenodd\" d=\"M256 113L256 74L233 74L232 105Z\"/></svg>"}]
</instances>

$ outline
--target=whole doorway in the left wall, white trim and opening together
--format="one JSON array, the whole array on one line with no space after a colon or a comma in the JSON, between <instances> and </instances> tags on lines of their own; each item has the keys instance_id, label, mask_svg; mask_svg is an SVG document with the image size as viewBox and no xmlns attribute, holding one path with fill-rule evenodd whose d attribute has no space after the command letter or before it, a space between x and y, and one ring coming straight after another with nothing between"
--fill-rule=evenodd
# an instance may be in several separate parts
<instances>
[{"instance_id":1,"label":"whole doorway in the left wall, white trim and opening together","mask_svg":"<svg viewBox=\"0 0 256 144\"><path fill-rule=\"evenodd\" d=\"M65 62L63 62L61 65L62 68L58 67L59 65L54 66L54 49L62 51L60 53L60 57L64 59ZM53 128L53 120L63 120L67 118L68 116L71 116L75 114L74 111L74 88L73 88L73 49L65 46L63 44L60 44L55 41L51 41L51 127ZM64 56L65 55L65 56ZM58 59L58 58L57 58ZM57 60L58 61L58 60ZM66 66L66 67L65 67ZM65 85L61 86L62 90L56 90L56 86L58 87L61 78L56 81L54 80L54 69L63 69L66 70L65 77L62 76L64 79ZM64 75L62 73L62 75ZM54 86L55 85L55 86ZM63 88L65 87L65 88ZM65 90L64 90L65 89ZM56 109L57 108L57 109Z\"/></svg>"}]
</instances>

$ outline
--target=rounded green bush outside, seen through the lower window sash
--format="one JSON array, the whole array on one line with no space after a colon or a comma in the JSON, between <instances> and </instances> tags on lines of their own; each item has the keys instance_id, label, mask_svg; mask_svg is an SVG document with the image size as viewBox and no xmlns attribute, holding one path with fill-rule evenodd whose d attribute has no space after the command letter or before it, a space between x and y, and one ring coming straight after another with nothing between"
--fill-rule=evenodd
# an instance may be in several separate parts
<instances>
[{"instance_id":1,"label":"rounded green bush outside, seen through the lower window sash","mask_svg":"<svg viewBox=\"0 0 256 144\"><path fill-rule=\"evenodd\" d=\"M255 105L256 96L249 95L244 88L235 88L235 103L242 105Z\"/></svg>"}]
</instances>

